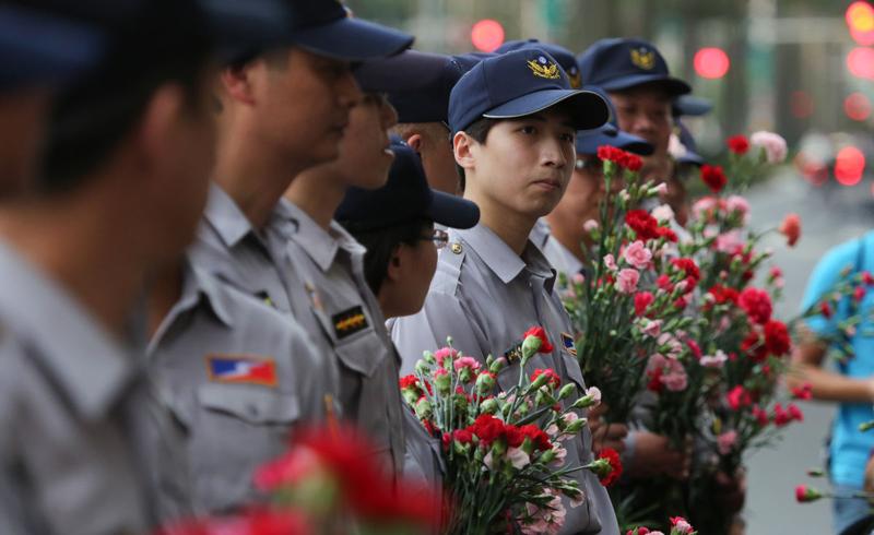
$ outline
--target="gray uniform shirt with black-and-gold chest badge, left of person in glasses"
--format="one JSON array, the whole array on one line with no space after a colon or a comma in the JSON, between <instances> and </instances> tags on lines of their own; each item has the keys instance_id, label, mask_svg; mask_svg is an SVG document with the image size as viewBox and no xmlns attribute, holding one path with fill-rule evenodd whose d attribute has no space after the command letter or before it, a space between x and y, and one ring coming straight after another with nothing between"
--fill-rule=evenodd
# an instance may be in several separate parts
<instances>
[{"instance_id":1,"label":"gray uniform shirt with black-and-gold chest badge, left of person in glasses","mask_svg":"<svg viewBox=\"0 0 874 535\"><path fill-rule=\"evenodd\" d=\"M288 223L276 226L286 233L284 271L300 277L307 294L293 299L293 312L336 362L344 415L400 473L405 448L400 359L364 277L365 249L336 222L327 231L286 200L275 214Z\"/></svg>"}]
</instances>

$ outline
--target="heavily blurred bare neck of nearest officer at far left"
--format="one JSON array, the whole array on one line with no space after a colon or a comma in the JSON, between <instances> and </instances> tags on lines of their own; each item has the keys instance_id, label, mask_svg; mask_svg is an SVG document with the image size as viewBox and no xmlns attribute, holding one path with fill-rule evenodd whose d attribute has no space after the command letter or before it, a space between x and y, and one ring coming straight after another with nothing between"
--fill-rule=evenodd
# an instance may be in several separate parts
<instances>
[{"instance_id":1,"label":"heavily blurred bare neck of nearest officer at far left","mask_svg":"<svg viewBox=\"0 0 874 535\"><path fill-rule=\"evenodd\" d=\"M119 337L126 335L147 268L122 212L99 195L0 207L0 236Z\"/></svg>"}]
</instances>

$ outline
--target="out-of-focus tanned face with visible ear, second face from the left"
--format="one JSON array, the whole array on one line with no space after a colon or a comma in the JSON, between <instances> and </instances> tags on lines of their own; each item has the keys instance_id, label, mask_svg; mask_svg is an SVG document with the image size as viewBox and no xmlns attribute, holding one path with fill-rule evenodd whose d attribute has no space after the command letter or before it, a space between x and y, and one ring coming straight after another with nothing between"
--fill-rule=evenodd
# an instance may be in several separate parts
<instances>
[{"instance_id":1,"label":"out-of-focus tanned face with visible ear, second face from the left","mask_svg":"<svg viewBox=\"0 0 874 535\"><path fill-rule=\"evenodd\" d=\"M336 159L350 111L362 98L349 62L300 48L226 72L224 82L251 110L259 144L293 162L298 173Z\"/></svg>"}]
</instances>

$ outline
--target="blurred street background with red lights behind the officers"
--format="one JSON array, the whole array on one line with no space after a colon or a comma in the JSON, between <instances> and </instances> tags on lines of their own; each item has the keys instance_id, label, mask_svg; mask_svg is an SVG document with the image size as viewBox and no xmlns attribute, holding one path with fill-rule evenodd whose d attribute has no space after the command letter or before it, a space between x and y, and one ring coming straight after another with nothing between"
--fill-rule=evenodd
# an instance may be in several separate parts
<instances>
[{"instance_id":1,"label":"blurred street background with red lights behind the officers","mask_svg":"<svg viewBox=\"0 0 874 535\"><path fill-rule=\"evenodd\" d=\"M493 50L536 37L575 54L602 37L654 43L674 74L713 111L684 118L699 152L724 156L723 140L772 130L789 142L789 164L748 198L753 227L802 216L799 246L775 237L786 273L783 318L796 313L807 275L834 245L874 218L872 104L874 8L848 0L347 0L361 16L416 35L437 52ZM584 81L583 81L584 82ZM803 424L748 460L747 535L830 533L830 504L801 506L794 486L822 467L832 408L807 403Z\"/></svg>"}]
</instances>

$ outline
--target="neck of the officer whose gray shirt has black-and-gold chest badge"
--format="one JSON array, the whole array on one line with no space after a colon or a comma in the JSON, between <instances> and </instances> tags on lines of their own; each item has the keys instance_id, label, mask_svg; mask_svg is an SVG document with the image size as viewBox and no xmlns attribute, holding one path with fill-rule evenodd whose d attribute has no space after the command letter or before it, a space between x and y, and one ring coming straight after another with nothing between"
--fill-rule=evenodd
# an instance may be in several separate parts
<instances>
[{"instance_id":1,"label":"neck of the officer whose gray shirt has black-and-gold chest badge","mask_svg":"<svg viewBox=\"0 0 874 535\"><path fill-rule=\"evenodd\" d=\"M320 165L298 175L285 191L285 199L328 230L346 189L330 165Z\"/></svg>"}]
</instances>

